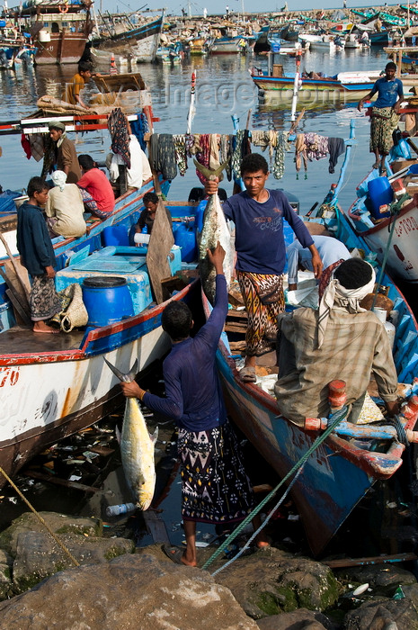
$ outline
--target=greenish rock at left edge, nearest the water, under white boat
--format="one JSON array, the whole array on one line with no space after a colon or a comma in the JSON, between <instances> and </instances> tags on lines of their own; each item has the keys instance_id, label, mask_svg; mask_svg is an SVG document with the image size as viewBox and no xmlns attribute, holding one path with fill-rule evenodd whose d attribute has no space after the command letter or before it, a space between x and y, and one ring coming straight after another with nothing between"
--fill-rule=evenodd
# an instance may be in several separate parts
<instances>
[{"instance_id":1,"label":"greenish rock at left edge, nearest the water, under white boat","mask_svg":"<svg viewBox=\"0 0 418 630\"><path fill-rule=\"evenodd\" d=\"M56 512L38 512L54 534L80 534L84 536L102 536L102 521L99 518L67 517ZM22 532L45 532L45 526L32 512L26 512L3 532L0 532L0 549L7 554L16 555L17 539Z\"/></svg>"}]
</instances>

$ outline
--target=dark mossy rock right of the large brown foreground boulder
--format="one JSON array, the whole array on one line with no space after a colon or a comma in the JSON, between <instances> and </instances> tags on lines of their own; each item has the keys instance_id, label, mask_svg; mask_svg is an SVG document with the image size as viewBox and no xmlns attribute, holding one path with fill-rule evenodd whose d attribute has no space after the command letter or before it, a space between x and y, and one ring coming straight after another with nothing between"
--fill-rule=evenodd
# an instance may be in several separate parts
<instances>
[{"instance_id":1,"label":"dark mossy rock right of the large brown foreground boulder","mask_svg":"<svg viewBox=\"0 0 418 630\"><path fill-rule=\"evenodd\" d=\"M297 608L325 610L338 599L338 583L327 566L274 547L240 558L215 578L254 619Z\"/></svg>"}]
</instances>

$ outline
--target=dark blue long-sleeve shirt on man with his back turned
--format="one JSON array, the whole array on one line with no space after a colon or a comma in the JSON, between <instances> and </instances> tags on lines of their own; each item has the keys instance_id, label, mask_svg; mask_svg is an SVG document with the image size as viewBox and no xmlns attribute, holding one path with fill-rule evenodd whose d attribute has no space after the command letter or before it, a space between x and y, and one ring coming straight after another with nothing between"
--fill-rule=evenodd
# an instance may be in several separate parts
<instances>
[{"instance_id":1,"label":"dark blue long-sleeve shirt on man with his back turned","mask_svg":"<svg viewBox=\"0 0 418 630\"><path fill-rule=\"evenodd\" d=\"M218 341L227 318L227 282L216 277L216 301L209 320L196 337L173 344L165 359L165 396L146 392L150 410L173 419L181 428L208 431L227 419L227 410L215 365Z\"/></svg>"}]
</instances>

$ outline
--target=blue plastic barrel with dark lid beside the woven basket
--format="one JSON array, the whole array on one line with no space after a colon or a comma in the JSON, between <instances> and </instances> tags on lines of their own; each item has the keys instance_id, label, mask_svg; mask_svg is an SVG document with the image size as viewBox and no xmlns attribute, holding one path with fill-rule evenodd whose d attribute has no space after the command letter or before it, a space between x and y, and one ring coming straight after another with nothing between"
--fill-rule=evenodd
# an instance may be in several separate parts
<instances>
[{"instance_id":1,"label":"blue plastic barrel with dark lid beside the woven basket","mask_svg":"<svg viewBox=\"0 0 418 630\"><path fill-rule=\"evenodd\" d=\"M96 275L84 278L83 302L88 312L87 326L107 326L134 314L125 278Z\"/></svg>"}]
</instances>

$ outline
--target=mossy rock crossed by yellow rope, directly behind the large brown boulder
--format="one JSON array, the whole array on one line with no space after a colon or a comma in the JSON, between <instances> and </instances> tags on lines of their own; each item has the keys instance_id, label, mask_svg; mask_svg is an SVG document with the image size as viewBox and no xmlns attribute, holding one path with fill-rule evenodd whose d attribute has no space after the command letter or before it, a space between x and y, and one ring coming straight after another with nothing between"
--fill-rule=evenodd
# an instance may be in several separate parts
<instances>
[{"instance_id":1,"label":"mossy rock crossed by yellow rope, directly behind the large brown boulder","mask_svg":"<svg viewBox=\"0 0 418 630\"><path fill-rule=\"evenodd\" d=\"M58 536L80 564L105 563L122 554L133 554L135 545L125 538L98 538L67 534ZM21 532L13 563L15 593L31 589L44 578L74 566L71 558L49 534Z\"/></svg>"}]
</instances>

